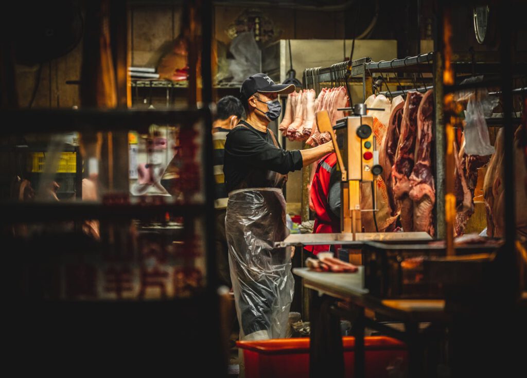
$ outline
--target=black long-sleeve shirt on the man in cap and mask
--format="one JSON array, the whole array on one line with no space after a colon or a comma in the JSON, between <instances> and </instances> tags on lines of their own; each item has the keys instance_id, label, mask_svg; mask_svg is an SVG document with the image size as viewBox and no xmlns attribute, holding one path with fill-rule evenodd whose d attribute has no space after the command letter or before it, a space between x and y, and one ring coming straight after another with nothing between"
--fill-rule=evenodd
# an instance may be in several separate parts
<instances>
[{"instance_id":1,"label":"black long-sleeve shirt on the man in cap and mask","mask_svg":"<svg viewBox=\"0 0 527 378\"><path fill-rule=\"evenodd\" d=\"M247 187L268 186L267 171L280 174L297 171L302 168L300 151L286 151L272 142L269 131L256 130L245 121L244 125L233 128L225 142L225 161L223 174L227 192L236 190L247 179ZM278 143L278 141L277 141Z\"/></svg>"}]
</instances>

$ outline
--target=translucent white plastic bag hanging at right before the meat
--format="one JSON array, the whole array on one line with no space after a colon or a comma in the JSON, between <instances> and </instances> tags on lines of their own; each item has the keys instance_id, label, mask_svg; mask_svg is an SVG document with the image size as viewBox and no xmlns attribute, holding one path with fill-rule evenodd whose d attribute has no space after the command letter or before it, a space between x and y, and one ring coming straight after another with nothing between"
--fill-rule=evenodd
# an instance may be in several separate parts
<instances>
[{"instance_id":1,"label":"translucent white plastic bag hanging at right before the meat","mask_svg":"<svg viewBox=\"0 0 527 378\"><path fill-rule=\"evenodd\" d=\"M492 155L494 147L491 145L489 129L485 115L492 114L497 105L497 98L490 98L485 93L472 96L465 111L465 153L467 155ZM478 99L479 97L479 99Z\"/></svg>"}]
</instances>

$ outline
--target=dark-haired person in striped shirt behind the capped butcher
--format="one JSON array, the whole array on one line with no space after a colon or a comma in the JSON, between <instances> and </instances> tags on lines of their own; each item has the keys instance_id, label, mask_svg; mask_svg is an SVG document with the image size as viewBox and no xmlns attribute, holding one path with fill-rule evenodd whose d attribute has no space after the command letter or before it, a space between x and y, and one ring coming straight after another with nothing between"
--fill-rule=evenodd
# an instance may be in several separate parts
<instances>
[{"instance_id":1,"label":"dark-haired person in striped shirt behind the capped butcher","mask_svg":"<svg viewBox=\"0 0 527 378\"><path fill-rule=\"evenodd\" d=\"M220 282L229 288L231 285L228 260L228 246L225 236L225 214L228 194L223 176L223 156L225 140L231 128L245 118L241 101L235 96L222 97L216 104L216 120L212 124L212 146L214 178L216 180L214 207L216 208L216 252Z\"/></svg>"}]
</instances>

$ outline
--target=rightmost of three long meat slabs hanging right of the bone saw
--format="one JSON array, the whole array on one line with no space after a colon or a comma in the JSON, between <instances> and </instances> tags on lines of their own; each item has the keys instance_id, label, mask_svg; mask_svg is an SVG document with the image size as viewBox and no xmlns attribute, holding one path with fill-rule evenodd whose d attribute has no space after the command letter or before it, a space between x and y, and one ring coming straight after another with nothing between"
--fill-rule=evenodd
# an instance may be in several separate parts
<instances>
[{"instance_id":1,"label":"rightmost of three long meat slabs hanging right of the bone saw","mask_svg":"<svg viewBox=\"0 0 527 378\"><path fill-rule=\"evenodd\" d=\"M414 201L414 231L424 231L434 236L432 210L435 203L435 185L432 174L430 145L433 138L434 94L425 93L417 110L417 138L415 141L415 164L410 175L409 196Z\"/></svg>"}]
</instances>

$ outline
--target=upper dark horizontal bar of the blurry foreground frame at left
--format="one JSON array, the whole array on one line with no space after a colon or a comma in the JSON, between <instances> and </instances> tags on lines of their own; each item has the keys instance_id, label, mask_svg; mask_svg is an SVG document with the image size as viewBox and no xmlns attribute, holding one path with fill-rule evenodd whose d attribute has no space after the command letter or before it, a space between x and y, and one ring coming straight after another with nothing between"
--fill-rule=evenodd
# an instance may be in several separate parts
<instances>
[{"instance_id":1,"label":"upper dark horizontal bar of the blurry foreground frame at left","mask_svg":"<svg viewBox=\"0 0 527 378\"><path fill-rule=\"evenodd\" d=\"M206 108L183 110L31 109L3 110L4 133L50 133L71 131L148 131L151 124L193 125L206 115Z\"/></svg>"}]
</instances>

